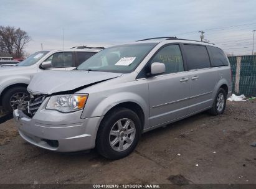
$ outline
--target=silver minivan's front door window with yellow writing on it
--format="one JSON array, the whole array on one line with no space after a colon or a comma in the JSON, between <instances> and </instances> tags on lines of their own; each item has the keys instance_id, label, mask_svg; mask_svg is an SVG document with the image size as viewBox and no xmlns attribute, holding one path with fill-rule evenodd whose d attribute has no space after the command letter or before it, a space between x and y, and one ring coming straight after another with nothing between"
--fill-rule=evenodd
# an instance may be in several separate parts
<instances>
[{"instance_id":1,"label":"silver minivan's front door window with yellow writing on it","mask_svg":"<svg viewBox=\"0 0 256 189\"><path fill-rule=\"evenodd\" d=\"M165 74L184 71L179 45L169 45L161 48L151 60L151 63L153 62L164 63L166 68Z\"/></svg>"}]
</instances>

